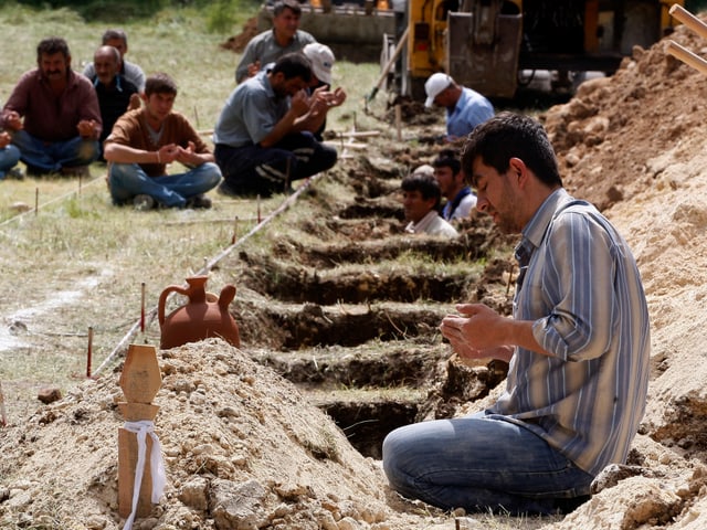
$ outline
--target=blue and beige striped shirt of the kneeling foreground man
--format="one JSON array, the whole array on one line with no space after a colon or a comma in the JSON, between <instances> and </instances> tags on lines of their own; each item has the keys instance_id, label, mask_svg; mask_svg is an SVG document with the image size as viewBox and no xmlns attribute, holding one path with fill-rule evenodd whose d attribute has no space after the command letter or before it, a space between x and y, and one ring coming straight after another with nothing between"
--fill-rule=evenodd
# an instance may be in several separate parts
<instances>
[{"instance_id":1,"label":"blue and beige striped shirt of the kneeling foreground man","mask_svg":"<svg viewBox=\"0 0 707 530\"><path fill-rule=\"evenodd\" d=\"M514 318L551 357L516 348L492 407L597 475L626 459L645 412L651 337L635 259L599 213L555 191L523 231Z\"/></svg>"}]
</instances>

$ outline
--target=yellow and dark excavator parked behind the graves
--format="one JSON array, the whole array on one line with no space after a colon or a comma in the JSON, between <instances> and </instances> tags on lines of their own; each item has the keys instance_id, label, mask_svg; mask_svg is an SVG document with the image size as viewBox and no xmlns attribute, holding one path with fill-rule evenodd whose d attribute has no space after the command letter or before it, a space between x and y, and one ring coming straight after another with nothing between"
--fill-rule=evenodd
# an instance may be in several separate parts
<instances>
[{"instance_id":1,"label":"yellow and dark excavator parked behind the graves","mask_svg":"<svg viewBox=\"0 0 707 530\"><path fill-rule=\"evenodd\" d=\"M381 81L421 99L435 72L487 97L513 98L535 71L559 78L613 73L633 46L650 47L677 24L680 0L392 0Z\"/></svg>"}]
</instances>

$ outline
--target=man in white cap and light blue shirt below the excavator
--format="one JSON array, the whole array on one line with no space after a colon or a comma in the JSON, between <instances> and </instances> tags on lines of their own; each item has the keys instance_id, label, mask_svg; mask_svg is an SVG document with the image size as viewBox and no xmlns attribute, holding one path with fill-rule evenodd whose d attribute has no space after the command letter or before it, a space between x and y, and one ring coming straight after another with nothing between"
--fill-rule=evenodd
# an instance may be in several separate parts
<instances>
[{"instance_id":1,"label":"man in white cap and light blue shirt below the excavator","mask_svg":"<svg viewBox=\"0 0 707 530\"><path fill-rule=\"evenodd\" d=\"M446 107L446 141L466 138L474 128L494 116L494 106L478 92L457 85L444 73L432 74L424 84L425 107Z\"/></svg>"}]
</instances>

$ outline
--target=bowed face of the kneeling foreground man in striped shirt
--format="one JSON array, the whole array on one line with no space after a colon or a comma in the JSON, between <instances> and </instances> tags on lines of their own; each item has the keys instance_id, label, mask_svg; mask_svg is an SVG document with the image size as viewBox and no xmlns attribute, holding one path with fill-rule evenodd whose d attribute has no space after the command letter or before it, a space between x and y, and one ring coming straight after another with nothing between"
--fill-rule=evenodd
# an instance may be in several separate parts
<instances>
[{"instance_id":1,"label":"bowed face of the kneeling foreground man in striped shirt","mask_svg":"<svg viewBox=\"0 0 707 530\"><path fill-rule=\"evenodd\" d=\"M520 219L523 197L511 179L518 174L513 167L499 173L490 166L486 166L481 157L473 163L474 182L476 182L476 210L489 214L494 223L505 234L517 234L523 231L525 223Z\"/></svg>"}]
</instances>

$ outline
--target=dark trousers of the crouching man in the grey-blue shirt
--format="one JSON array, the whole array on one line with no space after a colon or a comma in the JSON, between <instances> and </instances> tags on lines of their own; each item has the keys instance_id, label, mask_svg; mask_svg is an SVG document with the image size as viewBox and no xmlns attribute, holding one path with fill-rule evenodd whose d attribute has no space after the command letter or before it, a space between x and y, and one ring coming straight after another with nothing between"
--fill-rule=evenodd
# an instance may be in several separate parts
<instances>
[{"instance_id":1,"label":"dark trousers of the crouching man in the grey-blue shirt","mask_svg":"<svg viewBox=\"0 0 707 530\"><path fill-rule=\"evenodd\" d=\"M331 168L337 152L319 144L312 134L298 132L267 148L218 144L214 157L225 186L234 194L270 197L288 190L294 180Z\"/></svg>"}]
</instances>

